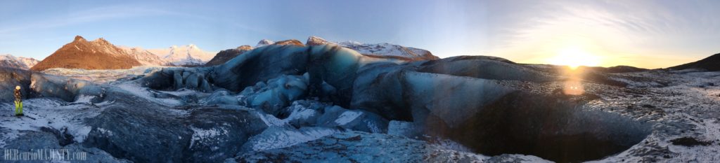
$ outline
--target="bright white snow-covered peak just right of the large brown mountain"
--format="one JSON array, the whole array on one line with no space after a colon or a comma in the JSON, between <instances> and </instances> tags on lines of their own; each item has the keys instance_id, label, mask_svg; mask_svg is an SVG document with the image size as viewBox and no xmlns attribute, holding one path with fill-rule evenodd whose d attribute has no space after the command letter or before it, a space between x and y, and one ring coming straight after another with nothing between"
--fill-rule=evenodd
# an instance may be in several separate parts
<instances>
[{"instance_id":1,"label":"bright white snow-covered peak just right of the large brown mountain","mask_svg":"<svg viewBox=\"0 0 720 163\"><path fill-rule=\"evenodd\" d=\"M203 51L194 44L186 46L170 46L167 49L148 49L152 54L160 56L176 66L204 65L215 53Z\"/></svg>"}]
</instances>

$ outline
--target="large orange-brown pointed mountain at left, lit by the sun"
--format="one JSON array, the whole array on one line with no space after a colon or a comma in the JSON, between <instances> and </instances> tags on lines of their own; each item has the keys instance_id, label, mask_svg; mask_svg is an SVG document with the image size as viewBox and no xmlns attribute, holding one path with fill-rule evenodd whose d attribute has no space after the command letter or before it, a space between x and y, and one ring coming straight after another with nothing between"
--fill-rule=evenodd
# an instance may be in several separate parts
<instances>
[{"instance_id":1,"label":"large orange-brown pointed mountain at left, lit by the sun","mask_svg":"<svg viewBox=\"0 0 720 163\"><path fill-rule=\"evenodd\" d=\"M30 69L130 69L140 65L140 61L105 39L87 41L82 36L75 36L71 43L65 44Z\"/></svg>"}]
</instances>

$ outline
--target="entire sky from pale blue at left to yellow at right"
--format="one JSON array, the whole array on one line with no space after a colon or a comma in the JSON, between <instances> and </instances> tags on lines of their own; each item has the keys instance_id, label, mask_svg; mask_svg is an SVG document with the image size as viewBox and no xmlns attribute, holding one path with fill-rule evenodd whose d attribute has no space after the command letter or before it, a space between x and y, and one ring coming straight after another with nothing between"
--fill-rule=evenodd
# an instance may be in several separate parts
<instances>
[{"instance_id":1,"label":"entire sky from pale blue at left to yellow at right","mask_svg":"<svg viewBox=\"0 0 720 163\"><path fill-rule=\"evenodd\" d=\"M720 1L4 1L0 54L44 59L76 35L206 51L260 39L391 43L441 58L663 68L720 53Z\"/></svg>"}]
</instances>

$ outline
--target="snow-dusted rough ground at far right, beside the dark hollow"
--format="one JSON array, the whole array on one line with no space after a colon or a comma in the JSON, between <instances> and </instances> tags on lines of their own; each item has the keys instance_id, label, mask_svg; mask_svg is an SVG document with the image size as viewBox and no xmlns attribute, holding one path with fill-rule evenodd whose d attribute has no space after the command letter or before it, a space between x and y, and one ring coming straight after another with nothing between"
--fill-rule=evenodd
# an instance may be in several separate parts
<instances>
[{"instance_id":1,"label":"snow-dusted rough ground at far right, beside the dark hollow","mask_svg":"<svg viewBox=\"0 0 720 163\"><path fill-rule=\"evenodd\" d=\"M656 124L639 144L595 162L720 162L720 71L653 70L617 77L644 93L603 97L588 106ZM699 143L679 141L683 137Z\"/></svg>"}]
</instances>

